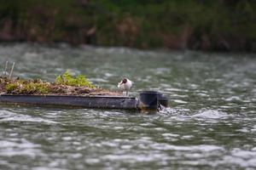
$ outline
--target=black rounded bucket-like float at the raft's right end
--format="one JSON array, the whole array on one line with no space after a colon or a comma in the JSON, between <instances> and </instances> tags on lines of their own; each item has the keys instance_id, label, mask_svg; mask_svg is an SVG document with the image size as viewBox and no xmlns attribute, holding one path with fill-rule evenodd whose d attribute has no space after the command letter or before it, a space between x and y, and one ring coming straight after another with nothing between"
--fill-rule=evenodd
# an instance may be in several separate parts
<instances>
[{"instance_id":1,"label":"black rounded bucket-like float at the raft's right end","mask_svg":"<svg viewBox=\"0 0 256 170\"><path fill-rule=\"evenodd\" d=\"M139 107L142 110L157 111L158 110L159 93L155 91L143 91L139 95Z\"/></svg>"}]
</instances>

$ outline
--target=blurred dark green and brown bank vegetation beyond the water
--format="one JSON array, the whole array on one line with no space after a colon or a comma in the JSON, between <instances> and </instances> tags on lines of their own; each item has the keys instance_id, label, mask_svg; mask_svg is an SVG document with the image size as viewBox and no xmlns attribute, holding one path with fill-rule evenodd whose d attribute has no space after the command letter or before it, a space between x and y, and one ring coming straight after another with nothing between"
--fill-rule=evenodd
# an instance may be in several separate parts
<instances>
[{"instance_id":1,"label":"blurred dark green and brown bank vegetation beyond the water","mask_svg":"<svg viewBox=\"0 0 256 170\"><path fill-rule=\"evenodd\" d=\"M256 52L253 0L0 0L2 42Z\"/></svg>"}]
</instances>

